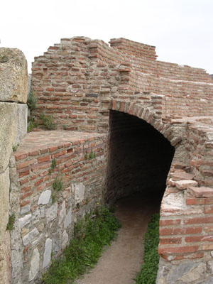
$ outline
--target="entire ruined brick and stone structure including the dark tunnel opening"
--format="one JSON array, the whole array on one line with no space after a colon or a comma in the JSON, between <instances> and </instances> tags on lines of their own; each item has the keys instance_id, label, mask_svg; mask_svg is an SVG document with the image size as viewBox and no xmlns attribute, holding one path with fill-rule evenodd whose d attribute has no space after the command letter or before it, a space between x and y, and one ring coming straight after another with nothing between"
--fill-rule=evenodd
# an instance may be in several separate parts
<instances>
[{"instance_id":1,"label":"entire ruined brick and stone structure including the dark tunnel opening","mask_svg":"<svg viewBox=\"0 0 213 284\"><path fill-rule=\"evenodd\" d=\"M56 129L26 134L26 60L0 49L1 283L39 283L99 203L160 190L157 284L213 283L213 80L156 58L125 38L63 38L32 67L33 116Z\"/></svg>"}]
</instances>

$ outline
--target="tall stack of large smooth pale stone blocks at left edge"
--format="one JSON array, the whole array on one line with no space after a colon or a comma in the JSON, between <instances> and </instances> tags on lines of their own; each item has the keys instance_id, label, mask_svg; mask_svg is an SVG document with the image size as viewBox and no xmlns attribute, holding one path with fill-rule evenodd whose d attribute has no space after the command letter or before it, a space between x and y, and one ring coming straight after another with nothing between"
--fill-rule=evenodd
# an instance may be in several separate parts
<instances>
[{"instance_id":1,"label":"tall stack of large smooth pale stone blocks at left edge","mask_svg":"<svg viewBox=\"0 0 213 284\"><path fill-rule=\"evenodd\" d=\"M18 49L0 48L0 283L11 280L9 158L26 134L27 65Z\"/></svg>"}]
</instances>

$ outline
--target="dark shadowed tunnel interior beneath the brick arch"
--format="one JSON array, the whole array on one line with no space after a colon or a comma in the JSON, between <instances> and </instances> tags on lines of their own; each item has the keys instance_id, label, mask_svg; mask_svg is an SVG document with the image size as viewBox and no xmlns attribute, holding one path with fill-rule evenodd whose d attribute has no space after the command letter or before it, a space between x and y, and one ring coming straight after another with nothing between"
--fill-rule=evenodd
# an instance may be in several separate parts
<instances>
[{"instance_id":1,"label":"dark shadowed tunnel interior beneath the brick arch","mask_svg":"<svg viewBox=\"0 0 213 284\"><path fill-rule=\"evenodd\" d=\"M107 202L136 192L162 197L174 153L170 142L151 124L111 110Z\"/></svg>"}]
</instances>

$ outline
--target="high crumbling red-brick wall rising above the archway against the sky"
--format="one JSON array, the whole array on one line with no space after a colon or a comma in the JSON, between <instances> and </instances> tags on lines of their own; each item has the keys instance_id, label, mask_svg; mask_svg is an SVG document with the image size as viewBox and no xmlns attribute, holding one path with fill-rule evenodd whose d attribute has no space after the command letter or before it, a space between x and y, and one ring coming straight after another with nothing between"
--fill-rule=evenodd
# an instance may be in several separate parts
<instances>
[{"instance_id":1,"label":"high crumbling red-brick wall rising above the archway against the sky","mask_svg":"<svg viewBox=\"0 0 213 284\"><path fill-rule=\"evenodd\" d=\"M202 69L155 60L155 48L124 38L64 38L35 58L35 116L59 129L107 132L109 102L146 105L162 119L212 115L213 80ZM39 121L41 122L41 121Z\"/></svg>"}]
</instances>

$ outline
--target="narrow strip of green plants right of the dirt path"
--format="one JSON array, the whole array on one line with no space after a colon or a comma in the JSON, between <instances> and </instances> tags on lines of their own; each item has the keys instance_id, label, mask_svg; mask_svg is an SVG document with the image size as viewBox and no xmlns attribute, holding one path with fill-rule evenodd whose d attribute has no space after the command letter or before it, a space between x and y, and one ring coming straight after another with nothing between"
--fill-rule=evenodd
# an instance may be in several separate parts
<instances>
[{"instance_id":1,"label":"narrow strip of green plants right of the dirt path","mask_svg":"<svg viewBox=\"0 0 213 284\"><path fill-rule=\"evenodd\" d=\"M144 236L144 263L135 278L136 284L155 284L158 273L159 214L153 214Z\"/></svg>"}]
</instances>

